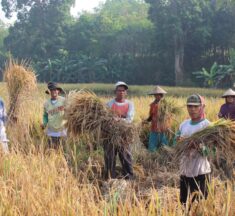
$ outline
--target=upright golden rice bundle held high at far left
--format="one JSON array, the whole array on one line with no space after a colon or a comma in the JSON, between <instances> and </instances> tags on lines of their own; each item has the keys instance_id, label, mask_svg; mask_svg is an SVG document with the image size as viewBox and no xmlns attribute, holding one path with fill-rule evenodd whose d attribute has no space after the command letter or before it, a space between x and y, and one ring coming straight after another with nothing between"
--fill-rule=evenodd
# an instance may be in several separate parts
<instances>
[{"instance_id":1,"label":"upright golden rice bundle held high at far left","mask_svg":"<svg viewBox=\"0 0 235 216\"><path fill-rule=\"evenodd\" d=\"M16 120L20 116L20 107L37 87L36 76L26 62L18 64L10 59L5 66L4 81L7 83L9 94L9 120Z\"/></svg>"}]
</instances>

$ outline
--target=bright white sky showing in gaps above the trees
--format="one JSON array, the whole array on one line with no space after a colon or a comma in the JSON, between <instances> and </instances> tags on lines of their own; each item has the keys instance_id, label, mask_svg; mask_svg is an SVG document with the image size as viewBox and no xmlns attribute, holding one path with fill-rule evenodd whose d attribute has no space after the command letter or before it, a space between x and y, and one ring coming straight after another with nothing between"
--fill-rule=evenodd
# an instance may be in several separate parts
<instances>
[{"instance_id":1,"label":"bright white sky showing in gaps above the trees","mask_svg":"<svg viewBox=\"0 0 235 216\"><path fill-rule=\"evenodd\" d=\"M71 14L73 16L78 16L79 13L82 11L92 11L94 8L99 6L105 0L76 0L74 8L71 8ZM1 0L0 0L1 2ZM5 23L12 23L14 22L15 18L11 20L7 20L4 16L4 12L1 9L0 4L0 19L3 20Z\"/></svg>"}]
</instances>

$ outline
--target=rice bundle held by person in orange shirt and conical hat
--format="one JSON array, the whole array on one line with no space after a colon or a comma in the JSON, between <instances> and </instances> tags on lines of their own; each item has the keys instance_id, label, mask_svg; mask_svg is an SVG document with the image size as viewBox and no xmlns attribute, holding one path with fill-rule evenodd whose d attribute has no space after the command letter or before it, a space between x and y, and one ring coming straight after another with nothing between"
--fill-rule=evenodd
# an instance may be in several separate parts
<instances>
[{"instance_id":1,"label":"rice bundle held by person in orange shirt and conical hat","mask_svg":"<svg viewBox=\"0 0 235 216\"><path fill-rule=\"evenodd\" d=\"M181 108L172 98L163 98L159 102L159 109L157 115L157 125L163 131L166 131L172 125L172 120L176 115L181 113Z\"/></svg>"}]
</instances>

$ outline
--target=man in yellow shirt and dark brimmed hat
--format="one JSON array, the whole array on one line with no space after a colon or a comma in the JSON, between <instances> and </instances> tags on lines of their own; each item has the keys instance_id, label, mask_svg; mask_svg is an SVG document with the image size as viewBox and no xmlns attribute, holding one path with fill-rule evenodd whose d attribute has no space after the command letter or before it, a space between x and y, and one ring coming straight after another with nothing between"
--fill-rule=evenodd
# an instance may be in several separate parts
<instances>
[{"instance_id":1,"label":"man in yellow shirt and dark brimmed hat","mask_svg":"<svg viewBox=\"0 0 235 216\"><path fill-rule=\"evenodd\" d=\"M50 99L44 104L42 128L45 129L47 127L46 134L49 138L49 148L58 149L60 143L64 141L67 135L63 119L65 98L59 96L64 91L54 82L49 82L47 88L48 90L45 93L50 94Z\"/></svg>"}]
</instances>

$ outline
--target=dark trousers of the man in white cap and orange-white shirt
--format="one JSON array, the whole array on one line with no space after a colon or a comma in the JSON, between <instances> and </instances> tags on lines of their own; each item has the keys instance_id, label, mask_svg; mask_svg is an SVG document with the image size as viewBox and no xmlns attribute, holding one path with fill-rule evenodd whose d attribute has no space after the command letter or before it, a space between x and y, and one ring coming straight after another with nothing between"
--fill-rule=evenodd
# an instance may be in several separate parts
<instances>
[{"instance_id":1,"label":"dark trousers of the man in white cap and orange-white shirt","mask_svg":"<svg viewBox=\"0 0 235 216\"><path fill-rule=\"evenodd\" d=\"M104 144L105 178L116 178L116 156L119 156L125 179L133 177L132 156L130 147L115 147L111 143Z\"/></svg>"}]
</instances>

